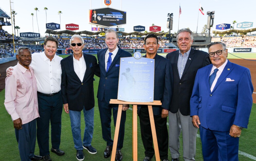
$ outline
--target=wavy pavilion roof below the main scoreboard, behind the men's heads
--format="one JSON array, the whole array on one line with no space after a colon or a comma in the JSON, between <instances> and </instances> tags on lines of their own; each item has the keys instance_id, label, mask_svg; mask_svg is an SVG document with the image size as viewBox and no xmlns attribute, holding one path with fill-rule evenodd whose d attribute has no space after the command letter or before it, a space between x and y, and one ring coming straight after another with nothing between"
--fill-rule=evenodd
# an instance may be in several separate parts
<instances>
[{"instance_id":1,"label":"wavy pavilion roof below the main scoreboard, behind the men's heads","mask_svg":"<svg viewBox=\"0 0 256 161\"><path fill-rule=\"evenodd\" d=\"M100 33L105 33L105 31L99 31L99 32L90 32L90 31L79 31L79 32L74 32L74 31L70 31L70 30L64 30L64 31L54 31L54 30L50 30L50 29L46 29L47 34L53 34L53 35L61 35L61 34L70 34L70 35L80 35L80 34L85 34L85 35L99 35ZM141 33L141 32L131 32L131 33L125 33L125 32L118 32L118 33L122 33L123 36L128 36L128 35L139 35L139 36L144 36L144 35L149 35L149 34L154 34L156 36L162 36L165 35L166 33L156 33L156 32L148 32L148 33Z\"/></svg>"}]
</instances>

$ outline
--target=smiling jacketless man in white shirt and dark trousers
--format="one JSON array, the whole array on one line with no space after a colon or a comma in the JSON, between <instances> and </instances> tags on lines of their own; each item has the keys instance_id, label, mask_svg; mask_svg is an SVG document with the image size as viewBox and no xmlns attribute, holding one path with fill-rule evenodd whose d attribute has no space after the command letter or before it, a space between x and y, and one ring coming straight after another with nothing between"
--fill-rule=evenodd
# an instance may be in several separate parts
<instances>
[{"instance_id":1,"label":"smiling jacketless man in white shirt and dark trousers","mask_svg":"<svg viewBox=\"0 0 256 161\"><path fill-rule=\"evenodd\" d=\"M49 152L49 124L51 123L51 151L57 155L64 155L64 151L59 149L61 143L61 60L62 57L56 55L58 40L53 36L48 36L44 40L42 53L33 53L30 66L36 76L38 112L37 118L37 142L39 153L44 161L51 161ZM8 68L6 75L10 76L12 68Z\"/></svg>"}]
</instances>

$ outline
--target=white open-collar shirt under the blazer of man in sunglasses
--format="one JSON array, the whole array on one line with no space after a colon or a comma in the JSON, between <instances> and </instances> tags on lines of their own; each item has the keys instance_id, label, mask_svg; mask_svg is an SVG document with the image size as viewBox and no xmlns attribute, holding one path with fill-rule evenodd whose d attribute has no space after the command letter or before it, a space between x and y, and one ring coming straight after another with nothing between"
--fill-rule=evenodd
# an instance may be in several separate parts
<instances>
[{"instance_id":1,"label":"white open-collar shirt under the blazer of man in sunglasses","mask_svg":"<svg viewBox=\"0 0 256 161\"><path fill-rule=\"evenodd\" d=\"M75 59L73 54L73 64L76 75L79 77L80 81L83 82L84 73L86 71L86 63L83 54L82 57L79 58L79 60Z\"/></svg>"}]
</instances>

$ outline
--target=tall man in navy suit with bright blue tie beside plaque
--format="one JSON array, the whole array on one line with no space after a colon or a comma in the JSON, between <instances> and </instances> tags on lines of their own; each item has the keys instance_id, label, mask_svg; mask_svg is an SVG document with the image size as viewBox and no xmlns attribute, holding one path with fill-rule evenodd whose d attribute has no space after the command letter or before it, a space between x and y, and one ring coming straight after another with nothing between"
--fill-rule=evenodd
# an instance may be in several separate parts
<instances>
[{"instance_id":1,"label":"tall man in navy suit with bright blue tie beside plaque","mask_svg":"<svg viewBox=\"0 0 256 161\"><path fill-rule=\"evenodd\" d=\"M120 58L132 56L130 53L117 46L118 40L116 31L112 29L107 30L105 34L105 42L108 48L102 49L97 53L98 64L100 67L100 81L97 98L102 127L102 137L107 142L107 147L104 151L105 158L110 156L113 147L110 123L113 110L114 125L116 126L118 105L109 104L109 101L110 99L117 99ZM123 105L117 150L115 152L115 159L117 161L121 161L123 159L121 148L123 147L124 142L124 125L127 109L129 109L129 105Z\"/></svg>"}]
</instances>

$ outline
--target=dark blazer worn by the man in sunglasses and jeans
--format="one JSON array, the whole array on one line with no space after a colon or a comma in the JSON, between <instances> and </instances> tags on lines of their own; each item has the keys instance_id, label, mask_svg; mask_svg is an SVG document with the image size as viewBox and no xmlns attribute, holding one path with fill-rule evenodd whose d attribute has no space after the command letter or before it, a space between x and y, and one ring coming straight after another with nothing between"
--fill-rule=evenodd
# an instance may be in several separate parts
<instances>
[{"instance_id":1,"label":"dark blazer worn by the man in sunglasses and jeans","mask_svg":"<svg viewBox=\"0 0 256 161\"><path fill-rule=\"evenodd\" d=\"M73 55L61 60L61 94L63 104L68 103L69 109L81 111L83 107L90 110L94 107L93 76L99 76L97 59L93 55L83 54L86 71L83 81L74 71Z\"/></svg>"}]
</instances>

